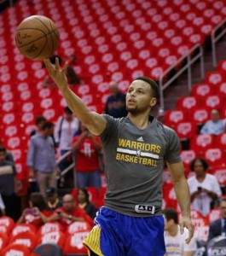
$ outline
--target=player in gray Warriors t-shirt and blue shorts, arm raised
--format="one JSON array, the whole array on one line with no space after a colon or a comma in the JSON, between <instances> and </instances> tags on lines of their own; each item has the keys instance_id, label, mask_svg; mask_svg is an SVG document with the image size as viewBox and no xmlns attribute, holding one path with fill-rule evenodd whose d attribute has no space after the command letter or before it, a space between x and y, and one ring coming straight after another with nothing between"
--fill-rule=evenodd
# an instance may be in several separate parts
<instances>
[{"instance_id":1,"label":"player in gray Warriors t-shirt and blue shorts, arm raised","mask_svg":"<svg viewBox=\"0 0 226 256\"><path fill-rule=\"evenodd\" d=\"M127 117L114 119L91 112L68 88L67 64L61 69L57 60L55 67L49 60L44 62L72 112L92 134L101 137L106 157L107 195L105 206L96 216L96 226L84 241L89 255L165 254L161 212L164 161L182 211L180 229L183 232L184 227L188 228L189 242L194 226L179 140L175 131L150 115L159 95L157 84L146 77L135 79L126 95Z\"/></svg>"}]
</instances>

